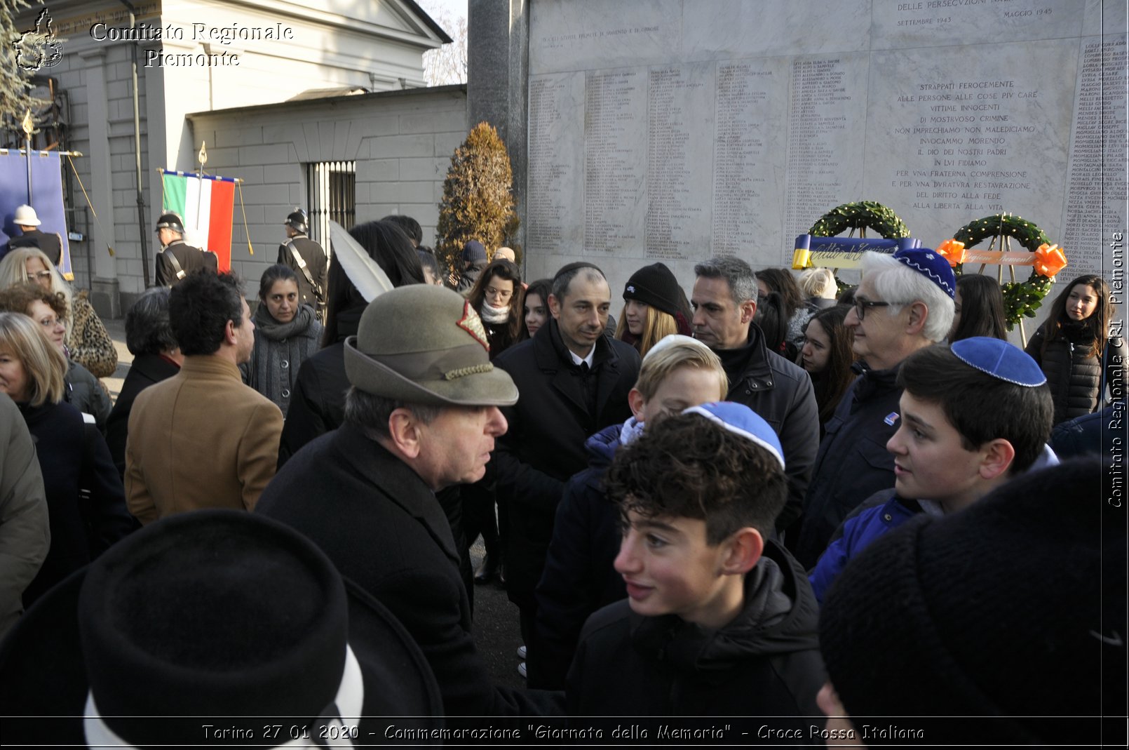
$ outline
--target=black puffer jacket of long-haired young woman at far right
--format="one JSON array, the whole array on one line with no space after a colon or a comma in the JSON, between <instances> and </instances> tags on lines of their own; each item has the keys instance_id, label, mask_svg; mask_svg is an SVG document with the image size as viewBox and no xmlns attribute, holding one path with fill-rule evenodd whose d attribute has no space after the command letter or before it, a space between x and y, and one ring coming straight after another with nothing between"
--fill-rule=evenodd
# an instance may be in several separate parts
<instances>
[{"instance_id":1,"label":"black puffer jacket of long-haired young woman at far right","mask_svg":"<svg viewBox=\"0 0 1129 750\"><path fill-rule=\"evenodd\" d=\"M1047 341L1048 325L1051 323L1043 323L1035 331L1025 351L1039 363L1043 374L1047 375L1047 384L1054 400L1054 424L1101 409L1104 383L1110 385L1113 398L1120 399L1124 392L1124 339L1120 337L1109 339L1102 357L1092 357L1089 356L1092 339L1082 325L1073 322L1064 323L1061 335L1053 341Z\"/></svg>"}]
</instances>

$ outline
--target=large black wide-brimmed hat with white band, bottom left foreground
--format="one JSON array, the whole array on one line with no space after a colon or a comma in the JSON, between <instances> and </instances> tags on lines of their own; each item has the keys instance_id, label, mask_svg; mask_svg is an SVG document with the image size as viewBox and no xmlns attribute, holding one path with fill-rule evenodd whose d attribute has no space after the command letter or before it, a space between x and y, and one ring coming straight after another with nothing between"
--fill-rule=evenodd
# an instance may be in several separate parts
<instances>
[{"instance_id":1,"label":"large black wide-brimmed hat with white band, bottom left foreground","mask_svg":"<svg viewBox=\"0 0 1129 750\"><path fill-rule=\"evenodd\" d=\"M0 643L0 714L27 717L5 720L6 744L270 747L359 725L356 742L375 739L361 716L436 729L428 717L441 713L427 661L387 609L305 537L237 511L135 532Z\"/></svg>"}]
</instances>

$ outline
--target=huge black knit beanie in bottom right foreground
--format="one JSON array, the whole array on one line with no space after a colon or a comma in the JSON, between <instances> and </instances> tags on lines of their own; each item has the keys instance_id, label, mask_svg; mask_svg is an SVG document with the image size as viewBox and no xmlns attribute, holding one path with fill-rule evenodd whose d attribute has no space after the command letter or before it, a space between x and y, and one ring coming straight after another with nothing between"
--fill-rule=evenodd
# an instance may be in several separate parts
<instances>
[{"instance_id":1,"label":"huge black knit beanie in bottom right foreground","mask_svg":"<svg viewBox=\"0 0 1129 750\"><path fill-rule=\"evenodd\" d=\"M1041 717L1099 716L1103 700L1123 712L1124 515L1102 472L1095 459L1031 472L851 560L824 600L820 644L856 727L1017 717L977 724L977 741L1048 742L1066 725ZM971 739L968 723L930 727L930 743ZM953 738L936 733L946 727Z\"/></svg>"}]
</instances>

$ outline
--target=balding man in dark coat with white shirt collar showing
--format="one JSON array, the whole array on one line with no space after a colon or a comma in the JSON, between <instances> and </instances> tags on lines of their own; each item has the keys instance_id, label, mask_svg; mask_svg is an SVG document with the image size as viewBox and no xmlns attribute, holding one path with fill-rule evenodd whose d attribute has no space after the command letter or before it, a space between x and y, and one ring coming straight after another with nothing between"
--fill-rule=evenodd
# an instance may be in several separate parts
<instances>
[{"instance_id":1,"label":"balding man in dark coat with white shirt collar showing","mask_svg":"<svg viewBox=\"0 0 1129 750\"><path fill-rule=\"evenodd\" d=\"M604 335L610 305L603 271L570 263L553 279L549 323L495 359L522 393L502 412L510 428L495 461L498 500L509 520L506 591L520 611L527 648L536 647L534 590L564 483L588 465L588 436L631 416L628 392L639 377L639 354Z\"/></svg>"}]
</instances>

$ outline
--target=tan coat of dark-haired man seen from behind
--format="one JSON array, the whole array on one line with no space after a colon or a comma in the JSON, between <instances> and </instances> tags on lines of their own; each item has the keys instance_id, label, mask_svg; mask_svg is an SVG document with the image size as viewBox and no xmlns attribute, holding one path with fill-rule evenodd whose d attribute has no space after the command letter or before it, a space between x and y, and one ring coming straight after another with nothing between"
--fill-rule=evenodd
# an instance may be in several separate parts
<instances>
[{"instance_id":1,"label":"tan coat of dark-haired man seen from behind","mask_svg":"<svg viewBox=\"0 0 1129 750\"><path fill-rule=\"evenodd\" d=\"M199 508L252 511L274 477L282 412L216 356L138 394L125 446L125 499L151 523Z\"/></svg>"}]
</instances>

